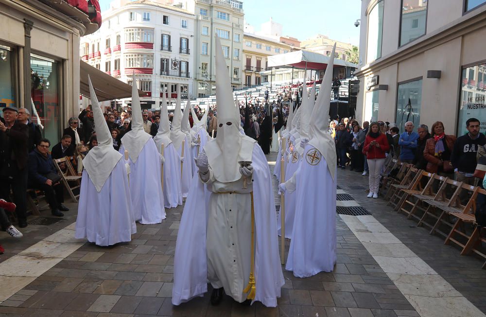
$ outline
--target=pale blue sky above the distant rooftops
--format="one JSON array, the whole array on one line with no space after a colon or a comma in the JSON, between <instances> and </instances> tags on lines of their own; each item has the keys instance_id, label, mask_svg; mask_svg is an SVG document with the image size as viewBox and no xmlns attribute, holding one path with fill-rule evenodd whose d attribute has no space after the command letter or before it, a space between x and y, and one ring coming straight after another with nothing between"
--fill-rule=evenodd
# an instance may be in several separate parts
<instances>
[{"instance_id":1,"label":"pale blue sky above the distant rooftops","mask_svg":"<svg viewBox=\"0 0 486 317\"><path fill-rule=\"evenodd\" d=\"M102 12L111 0L100 0ZM260 30L272 17L283 25L283 35L305 40L316 34L359 46L354 21L361 16L361 0L243 0L245 20Z\"/></svg>"}]
</instances>

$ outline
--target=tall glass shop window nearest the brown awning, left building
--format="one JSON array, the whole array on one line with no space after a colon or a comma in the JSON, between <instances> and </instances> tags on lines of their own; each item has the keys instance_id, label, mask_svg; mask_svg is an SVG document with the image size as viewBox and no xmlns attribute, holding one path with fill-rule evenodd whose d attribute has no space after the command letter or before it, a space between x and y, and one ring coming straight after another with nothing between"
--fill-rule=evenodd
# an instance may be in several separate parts
<instances>
[{"instance_id":1,"label":"tall glass shop window nearest the brown awning, left building","mask_svg":"<svg viewBox=\"0 0 486 317\"><path fill-rule=\"evenodd\" d=\"M31 120L55 145L60 139L59 65L47 57L31 54Z\"/></svg>"}]
</instances>

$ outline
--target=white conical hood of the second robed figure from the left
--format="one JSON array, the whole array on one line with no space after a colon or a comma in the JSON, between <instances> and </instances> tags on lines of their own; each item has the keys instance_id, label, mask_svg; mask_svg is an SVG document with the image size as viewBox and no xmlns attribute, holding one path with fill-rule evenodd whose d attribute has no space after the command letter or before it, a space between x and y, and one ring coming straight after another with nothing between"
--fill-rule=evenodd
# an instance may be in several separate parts
<instances>
[{"instance_id":1,"label":"white conical hood of the second robed figure from the left","mask_svg":"<svg viewBox=\"0 0 486 317\"><path fill-rule=\"evenodd\" d=\"M152 136L143 130L142 109L140 107L139 89L137 89L137 80L135 79L135 71L132 75L132 129L125 133L121 138L121 144L125 150L128 151L128 156L135 163L139 158L145 143L149 141Z\"/></svg>"}]
</instances>

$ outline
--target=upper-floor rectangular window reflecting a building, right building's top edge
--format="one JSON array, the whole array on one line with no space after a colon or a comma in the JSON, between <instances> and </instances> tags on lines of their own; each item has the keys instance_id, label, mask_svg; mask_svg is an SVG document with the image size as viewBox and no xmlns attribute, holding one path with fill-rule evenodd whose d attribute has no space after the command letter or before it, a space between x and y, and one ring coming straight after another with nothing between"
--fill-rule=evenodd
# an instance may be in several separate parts
<instances>
[{"instance_id":1,"label":"upper-floor rectangular window reflecting a building, right building's top edge","mask_svg":"<svg viewBox=\"0 0 486 317\"><path fill-rule=\"evenodd\" d=\"M400 46L424 35L426 24L427 0L402 0Z\"/></svg>"}]
</instances>

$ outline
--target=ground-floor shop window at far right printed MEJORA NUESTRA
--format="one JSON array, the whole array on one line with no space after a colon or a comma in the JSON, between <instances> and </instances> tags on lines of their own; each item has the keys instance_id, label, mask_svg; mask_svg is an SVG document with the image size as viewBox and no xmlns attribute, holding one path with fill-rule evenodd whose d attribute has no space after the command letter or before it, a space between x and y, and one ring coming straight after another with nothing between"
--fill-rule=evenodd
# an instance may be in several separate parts
<instances>
[{"instance_id":1,"label":"ground-floor shop window at far right printed MEJORA NUESTRA","mask_svg":"<svg viewBox=\"0 0 486 317\"><path fill-rule=\"evenodd\" d=\"M463 68L459 105L458 135L468 132L466 121L479 119L481 132L486 132L486 63Z\"/></svg>"}]
</instances>

